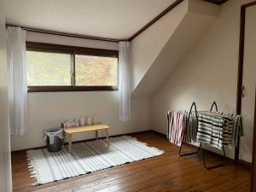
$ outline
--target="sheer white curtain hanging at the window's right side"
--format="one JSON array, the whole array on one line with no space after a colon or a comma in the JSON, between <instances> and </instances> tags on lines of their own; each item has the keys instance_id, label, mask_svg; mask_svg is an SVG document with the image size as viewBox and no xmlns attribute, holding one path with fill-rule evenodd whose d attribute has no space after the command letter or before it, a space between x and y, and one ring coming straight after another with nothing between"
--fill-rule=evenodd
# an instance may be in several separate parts
<instances>
[{"instance_id":1,"label":"sheer white curtain hanging at the window's right side","mask_svg":"<svg viewBox=\"0 0 256 192\"><path fill-rule=\"evenodd\" d=\"M131 120L130 42L119 42L119 120Z\"/></svg>"}]
</instances>

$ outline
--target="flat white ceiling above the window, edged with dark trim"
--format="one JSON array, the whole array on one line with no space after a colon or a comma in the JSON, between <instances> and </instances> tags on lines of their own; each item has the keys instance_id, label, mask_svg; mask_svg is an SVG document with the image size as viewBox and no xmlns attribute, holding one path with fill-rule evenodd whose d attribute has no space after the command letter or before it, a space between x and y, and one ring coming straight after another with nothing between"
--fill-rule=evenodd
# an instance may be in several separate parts
<instances>
[{"instance_id":1,"label":"flat white ceiling above the window, edged with dark trim","mask_svg":"<svg viewBox=\"0 0 256 192\"><path fill-rule=\"evenodd\" d=\"M5 0L6 22L102 38L130 38L175 0Z\"/></svg>"}]
</instances>

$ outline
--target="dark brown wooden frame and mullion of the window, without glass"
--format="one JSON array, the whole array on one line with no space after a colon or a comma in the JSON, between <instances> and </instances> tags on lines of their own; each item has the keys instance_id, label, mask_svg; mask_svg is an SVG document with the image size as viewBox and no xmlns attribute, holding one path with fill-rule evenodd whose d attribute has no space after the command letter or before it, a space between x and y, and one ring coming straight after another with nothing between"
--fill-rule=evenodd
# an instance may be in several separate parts
<instances>
[{"instance_id":1,"label":"dark brown wooden frame and mullion of the window, without glass","mask_svg":"<svg viewBox=\"0 0 256 192\"><path fill-rule=\"evenodd\" d=\"M75 55L106 56L118 58L119 51L111 49L93 49L75 47L61 44L44 44L36 42L26 42L26 50L42 51L48 53L66 53L73 56L73 70L75 71ZM28 86L27 92L55 92L55 91L100 91L118 90L118 86L76 86L75 72L73 73L72 84L68 86Z\"/></svg>"}]
</instances>

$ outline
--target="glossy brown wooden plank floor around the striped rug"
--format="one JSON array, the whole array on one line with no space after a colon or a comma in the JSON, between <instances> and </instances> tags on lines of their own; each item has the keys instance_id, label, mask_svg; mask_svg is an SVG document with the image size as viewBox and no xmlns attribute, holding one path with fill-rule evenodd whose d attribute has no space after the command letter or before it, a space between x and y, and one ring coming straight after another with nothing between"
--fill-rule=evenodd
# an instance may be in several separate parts
<instances>
[{"instance_id":1,"label":"glossy brown wooden plank floor around the striped rug","mask_svg":"<svg viewBox=\"0 0 256 192\"><path fill-rule=\"evenodd\" d=\"M227 166L207 171L197 155L179 157L177 148L159 134L146 132L133 137L165 150L166 154L32 187L26 154L16 152L12 155L14 191L249 191L250 170L247 166L230 161ZM216 164L218 160L217 155L207 154L208 164Z\"/></svg>"}]
</instances>

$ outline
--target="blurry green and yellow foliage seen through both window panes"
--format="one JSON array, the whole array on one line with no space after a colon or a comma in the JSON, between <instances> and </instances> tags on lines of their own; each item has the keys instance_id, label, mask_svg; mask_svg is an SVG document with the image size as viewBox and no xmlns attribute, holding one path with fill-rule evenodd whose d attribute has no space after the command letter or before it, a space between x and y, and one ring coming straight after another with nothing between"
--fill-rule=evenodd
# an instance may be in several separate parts
<instances>
[{"instance_id":1,"label":"blurry green and yellow foliage seen through both window panes","mask_svg":"<svg viewBox=\"0 0 256 192\"><path fill-rule=\"evenodd\" d=\"M27 51L27 84L31 86L71 85L69 54ZM118 59L75 55L77 86L117 85Z\"/></svg>"}]
</instances>

